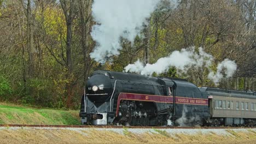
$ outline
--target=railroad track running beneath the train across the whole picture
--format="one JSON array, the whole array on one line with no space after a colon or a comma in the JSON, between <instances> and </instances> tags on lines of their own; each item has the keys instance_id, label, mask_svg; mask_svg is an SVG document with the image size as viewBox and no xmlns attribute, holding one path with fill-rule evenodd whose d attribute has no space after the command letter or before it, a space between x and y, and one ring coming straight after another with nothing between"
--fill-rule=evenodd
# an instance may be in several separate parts
<instances>
[{"instance_id":1,"label":"railroad track running beneath the train across the whole picture","mask_svg":"<svg viewBox=\"0 0 256 144\"><path fill-rule=\"evenodd\" d=\"M106 129L255 129L256 127L157 127L157 126L115 126L115 125L44 125L44 124L0 124L0 127L29 128L106 128Z\"/></svg>"}]
</instances>

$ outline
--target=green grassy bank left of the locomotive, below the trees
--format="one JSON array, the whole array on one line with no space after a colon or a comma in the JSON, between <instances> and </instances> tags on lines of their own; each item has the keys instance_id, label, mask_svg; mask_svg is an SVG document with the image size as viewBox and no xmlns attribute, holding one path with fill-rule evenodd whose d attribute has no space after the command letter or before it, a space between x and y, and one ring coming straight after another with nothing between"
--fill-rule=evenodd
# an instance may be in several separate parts
<instances>
[{"instance_id":1,"label":"green grassy bank left of the locomotive, below the trees","mask_svg":"<svg viewBox=\"0 0 256 144\"><path fill-rule=\"evenodd\" d=\"M0 124L80 124L79 111L37 109L0 103Z\"/></svg>"}]
</instances>

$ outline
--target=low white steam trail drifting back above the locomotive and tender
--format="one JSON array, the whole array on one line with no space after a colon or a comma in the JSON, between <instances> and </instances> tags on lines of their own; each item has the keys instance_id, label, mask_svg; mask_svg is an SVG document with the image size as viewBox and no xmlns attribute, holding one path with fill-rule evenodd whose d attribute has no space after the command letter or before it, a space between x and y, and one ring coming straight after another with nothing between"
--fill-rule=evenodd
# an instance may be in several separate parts
<instances>
[{"instance_id":1,"label":"low white steam trail drifting back above the locomotive and tender","mask_svg":"<svg viewBox=\"0 0 256 144\"><path fill-rule=\"evenodd\" d=\"M181 51L173 51L169 56L162 57L154 64L146 64L139 60L134 64L127 65L124 69L125 72L138 73L142 75L152 75L153 73L161 74L166 72L170 67L175 67L182 73L187 73L190 68L206 67L210 71L208 79L212 80L216 85L220 79L231 77L237 68L234 61L225 59L218 64L217 73L214 73L210 66L212 65L214 57L199 47L199 52L195 51L195 47L182 49Z\"/></svg>"}]
</instances>

